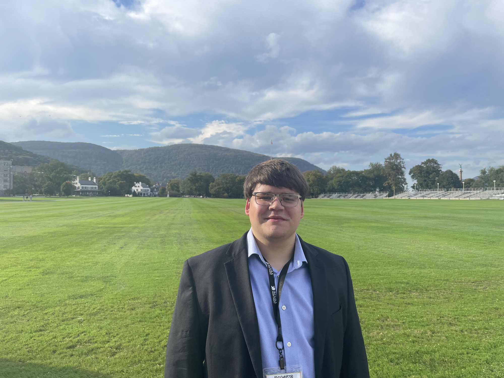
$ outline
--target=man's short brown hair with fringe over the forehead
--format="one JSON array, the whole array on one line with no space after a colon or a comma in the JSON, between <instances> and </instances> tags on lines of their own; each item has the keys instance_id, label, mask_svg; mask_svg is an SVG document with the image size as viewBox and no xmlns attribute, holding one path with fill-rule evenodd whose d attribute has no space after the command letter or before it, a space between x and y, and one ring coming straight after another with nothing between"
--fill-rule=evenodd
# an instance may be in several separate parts
<instances>
[{"instance_id":1,"label":"man's short brown hair with fringe over the forehead","mask_svg":"<svg viewBox=\"0 0 504 378\"><path fill-rule=\"evenodd\" d=\"M286 187L301 195L301 200L308 193L308 183L294 164L282 159L266 160L259 163L245 178L243 195L251 198L257 184Z\"/></svg>"}]
</instances>

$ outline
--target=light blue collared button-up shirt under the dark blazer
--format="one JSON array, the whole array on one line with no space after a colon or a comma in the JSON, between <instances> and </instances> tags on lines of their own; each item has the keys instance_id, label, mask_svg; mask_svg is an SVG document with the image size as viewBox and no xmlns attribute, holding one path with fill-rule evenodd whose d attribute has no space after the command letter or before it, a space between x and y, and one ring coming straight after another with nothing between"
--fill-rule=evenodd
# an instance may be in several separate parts
<instances>
[{"instance_id":1,"label":"light blue collared button-up shirt under the dark blazer","mask_svg":"<svg viewBox=\"0 0 504 378\"><path fill-rule=\"evenodd\" d=\"M247 234L247 250L248 271L259 322L263 369L278 367L279 354L275 347L278 328L273 316L268 268L251 229ZM296 234L294 261L290 263L287 270L279 302L284 358L288 366L302 366L303 378L315 378L313 293L307 264L303 248ZM273 273L275 286L278 286L280 272L273 268Z\"/></svg>"}]
</instances>

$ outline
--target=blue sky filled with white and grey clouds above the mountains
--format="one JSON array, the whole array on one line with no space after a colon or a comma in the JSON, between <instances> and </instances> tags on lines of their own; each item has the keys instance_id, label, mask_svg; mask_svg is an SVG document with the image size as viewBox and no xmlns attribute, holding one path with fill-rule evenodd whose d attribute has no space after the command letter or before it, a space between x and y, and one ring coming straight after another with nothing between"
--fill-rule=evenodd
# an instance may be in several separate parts
<instances>
[{"instance_id":1,"label":"blue sky filled with white and grey clouds above the mountains","mask_svg":"<svg viewBox=\"0 0 504 378\"><path fill-rule=\"evenodd\" d=\"M501 0L4 0L0 139L504 164ZM273 140L273 146L270 141Z\"/></svg>"}]
</instances>

